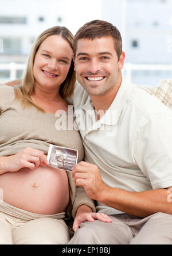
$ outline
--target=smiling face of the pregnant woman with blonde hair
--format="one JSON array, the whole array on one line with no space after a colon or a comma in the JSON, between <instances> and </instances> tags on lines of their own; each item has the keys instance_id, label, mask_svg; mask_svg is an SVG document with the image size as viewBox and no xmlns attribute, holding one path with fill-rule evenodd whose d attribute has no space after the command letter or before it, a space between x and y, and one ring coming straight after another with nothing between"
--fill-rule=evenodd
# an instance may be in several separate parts
<instances>
[{"instance_id":1,"label":"smiling face of the pregnant woman with blonde hair","mask_svg":"<svg viewBox=\"0 0 172 256\"><path fill-rule=\"evenodd\" d=\"M59 89L68 75L72 52L68 41L60 35L46 37L34 59L35 86L43 90Z\"/></svg>"}]
</instances>

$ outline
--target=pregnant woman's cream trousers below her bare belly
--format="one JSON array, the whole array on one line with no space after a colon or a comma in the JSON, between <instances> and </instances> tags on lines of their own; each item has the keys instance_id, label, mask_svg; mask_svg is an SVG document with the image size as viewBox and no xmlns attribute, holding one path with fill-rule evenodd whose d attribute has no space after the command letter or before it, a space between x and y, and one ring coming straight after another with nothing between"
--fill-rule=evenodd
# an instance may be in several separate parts
<instances>
[{"instance_id":1,"label":"pregnant woman's cream trousers below her bare belly","mask_svg":"<svg viewBox=\"0 0 172 256\"><path fill-rule=\"evenodd\" d=\"M0 201L0 244L66 244L64 216L32 213Z\"/></svg>"}]
</instances>

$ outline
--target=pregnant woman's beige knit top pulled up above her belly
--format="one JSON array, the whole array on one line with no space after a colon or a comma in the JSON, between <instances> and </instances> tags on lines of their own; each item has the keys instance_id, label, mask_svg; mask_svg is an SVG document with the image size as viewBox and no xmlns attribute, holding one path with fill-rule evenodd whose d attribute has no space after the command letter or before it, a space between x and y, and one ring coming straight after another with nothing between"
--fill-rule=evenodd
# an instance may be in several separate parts
<instances>
[{"instance_id":1,"label":"pregnant woman's beige knit top pulled up above her belly","mask_svg":"<svg viewBox=\"0 0 172 256\"><path fill-rule=\"evenodd\" d=\"M22 108L19 101L14 101L14 87L0 84L0 156L16 154L26 147L36 148L48 154L49 144L78 150L78 162L84 158L84 149L80 133L76 129L57 130L55 114L42 113L34 106ZM67 120L68 122L68 120ZM95 211L93 201L83 188L76 193L72 175L68 171L71 201L67 216L75 216L77 208L88 205Z\"/></svg>"}]
</instances>

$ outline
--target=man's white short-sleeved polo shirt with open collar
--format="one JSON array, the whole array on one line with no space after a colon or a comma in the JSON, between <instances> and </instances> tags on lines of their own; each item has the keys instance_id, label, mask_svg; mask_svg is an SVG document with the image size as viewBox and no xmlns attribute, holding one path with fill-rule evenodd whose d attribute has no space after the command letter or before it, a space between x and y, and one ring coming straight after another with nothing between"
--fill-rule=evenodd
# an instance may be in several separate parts
<instances>
[{"instance_id":1,"label":"man's white short-sleeved polo shirt with open collar","mask_svg":"<svg viewBox=\"0 0 172 256\"><path fill-rule=\"evenodd\" d=\"M91 99L79 83L75 86L73 105L85 161L99 167L105 184L130 192L172 186L170 108L124 79L100 120L96 120ZM100 202L96 210L121 213Z\"/></svg>"}]
</instances>

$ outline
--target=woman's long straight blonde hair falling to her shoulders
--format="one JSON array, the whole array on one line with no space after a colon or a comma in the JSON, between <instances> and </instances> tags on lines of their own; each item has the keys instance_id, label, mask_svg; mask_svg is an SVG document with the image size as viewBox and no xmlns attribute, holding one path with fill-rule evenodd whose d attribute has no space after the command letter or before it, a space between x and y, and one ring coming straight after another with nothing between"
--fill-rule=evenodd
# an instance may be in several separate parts
<instances>
[{"instance_id":1,"label":"woman's long straight blonde hair falling to her shoulders","mask_svg":"<svg viewBox=\"0 0 172 256\"><path fill-rule=\"evenodd\" d=\"M24 106L24 108L26 106L34 105L36 106L37 109L44 112L44 110L42 110L39 106L34 104L34 102L30 97L30 95L33 92L34 83L35 83L34 75L33 75L33 64L34 64L34 58L36 56L36 53L41 43L47 37L53 36L53 35L60 35L62 38L67 40L73 50L73 35L67 28L65 28L65 26L53 26L52 28L46 29L44 32L41 33L40 36L38 36L37 40L34 42L33 47L30 51L28 64L26 66L24 78L21 80L21 85L19 87L15 86L15 99L21 101L21 104L22 106ZM67 78L61 84L60 90L59 90L63 98L71 95L73 91L73 87L75 85L75 81L76 81L76 78L75 78L74 64L72 60Z\"/></svg>"}]
</instances>

